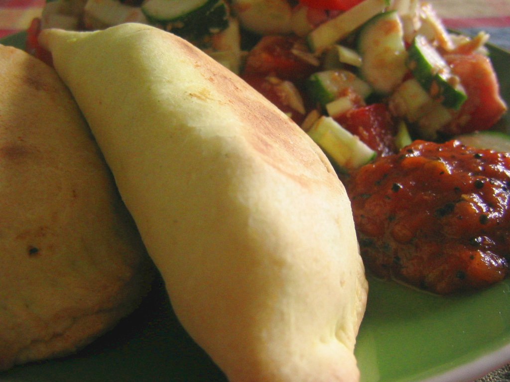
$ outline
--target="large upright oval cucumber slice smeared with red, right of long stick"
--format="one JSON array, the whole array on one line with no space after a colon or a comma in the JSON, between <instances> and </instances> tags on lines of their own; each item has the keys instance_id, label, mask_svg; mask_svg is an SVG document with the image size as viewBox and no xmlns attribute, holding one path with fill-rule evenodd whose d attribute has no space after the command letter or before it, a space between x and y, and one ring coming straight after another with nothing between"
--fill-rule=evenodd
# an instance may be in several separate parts
<instances>
[{"instance_id":1,"label":"large upright oval cucumber slice smeared with red, right of long stick","mask_svg":"<svg viewBox=\"0 0 510 382\"><path fill-rule=\"evenodd\" d=\"M397 11L367 21L358 37L361 77L381 94L389 94L407 73L404 32Z\"/></svg>"}]
</instances>

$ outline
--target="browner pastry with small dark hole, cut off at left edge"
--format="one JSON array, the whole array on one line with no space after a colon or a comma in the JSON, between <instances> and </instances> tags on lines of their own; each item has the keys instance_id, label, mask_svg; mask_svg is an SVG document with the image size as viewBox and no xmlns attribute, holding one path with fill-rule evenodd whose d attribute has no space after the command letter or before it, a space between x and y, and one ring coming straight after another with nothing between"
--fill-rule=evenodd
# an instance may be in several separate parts
<instances>
[{"instance_id":1,"label":"browner pastry with small dark hole, cut off at left edge","mask_svg":"<svg viewBox=\"0 0 510 382\"><path fill-rule=\"evenodd\" d=\"M0 370L63 356L132 312L152 263L54 69L0 45Z\"/></svg>"}]
</instances>

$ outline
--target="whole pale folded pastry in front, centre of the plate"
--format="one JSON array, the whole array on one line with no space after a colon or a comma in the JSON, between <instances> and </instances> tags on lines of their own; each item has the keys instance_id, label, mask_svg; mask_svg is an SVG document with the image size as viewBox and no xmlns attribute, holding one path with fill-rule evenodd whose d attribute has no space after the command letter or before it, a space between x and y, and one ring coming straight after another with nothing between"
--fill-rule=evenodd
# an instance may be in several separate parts
<instances>
[{"instance_id":1,"label":"whole pale folded pastry in front, centre of the plate","mask_svg":"<svg viewBox=\"0 0 510 382\"><path fill-rule=\"evenodd\" d=\"M363 262L345 188L307 134L231 71L152 26L45 30L40 42L176 316L228 379L358 380Z\"/></svg>"}]
</instances>

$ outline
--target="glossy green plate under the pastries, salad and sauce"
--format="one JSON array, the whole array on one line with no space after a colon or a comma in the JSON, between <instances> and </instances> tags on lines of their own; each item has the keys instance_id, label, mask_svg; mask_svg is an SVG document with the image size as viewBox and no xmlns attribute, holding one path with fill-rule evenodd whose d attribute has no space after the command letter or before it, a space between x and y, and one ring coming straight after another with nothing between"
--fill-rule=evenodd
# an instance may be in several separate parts
<instances>
[{"instance_id":1,"label":"glossy green plate under the pastries, salad and sauce","mask_svg":"<svg viewBox=\"0 0 510 382\"><path fill-rule=\"evenodd\" d=\"M24 34L0 42L24 46ZM510 53L490 47L510 104ZM510 130L509 116L497 128ZM356 358L361 382L461 382L510 362L510 281L441 297L369 277ZM225 382L172 312L160 279L142 306L78 354L24 365L1 381Z\"/></svg>"}]
</instances>

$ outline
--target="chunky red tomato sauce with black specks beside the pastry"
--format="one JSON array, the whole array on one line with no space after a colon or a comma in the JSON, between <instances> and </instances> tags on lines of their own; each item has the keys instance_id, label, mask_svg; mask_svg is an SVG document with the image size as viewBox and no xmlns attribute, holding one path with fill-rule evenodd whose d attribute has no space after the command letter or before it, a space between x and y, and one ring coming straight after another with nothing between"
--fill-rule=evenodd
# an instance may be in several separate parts
<instances>
[{"instance_id":1,"label":"chunky red tomato sauce with black specks beside the pastry","mask_svg":"<svg viewBox=\"0 0 510 382\"><path fill-rule=\"evenodd\" d=\"M446 294L502 280L510 258L510 154L415 141L347 184L375 275Z\"/></svg>"}]
</instances>

